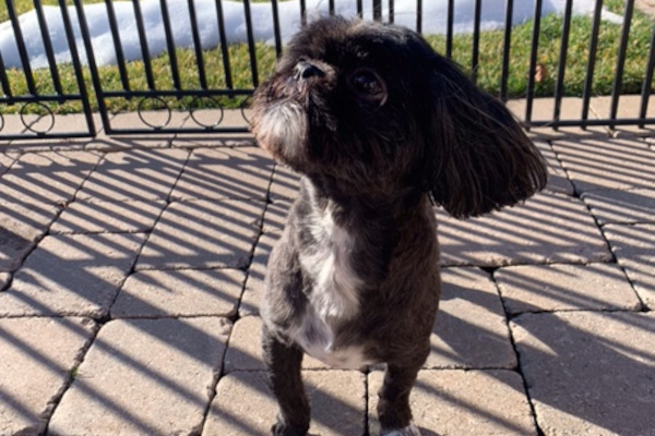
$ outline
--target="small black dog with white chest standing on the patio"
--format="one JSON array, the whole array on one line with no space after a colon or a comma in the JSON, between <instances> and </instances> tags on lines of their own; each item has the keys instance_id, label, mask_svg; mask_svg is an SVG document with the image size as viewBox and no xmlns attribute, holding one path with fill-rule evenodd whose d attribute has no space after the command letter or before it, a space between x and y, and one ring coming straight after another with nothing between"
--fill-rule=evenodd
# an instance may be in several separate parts
<instances>
[{"instance_id":1,"label":"small black dog with white chest standing on the patio","mask_svg":"<svg viewBox=\"0 0 655 436\"><path fill-rule=\"evenodd\" d=\"M309 429L308 353L341 368L384 363L381 434L419 435L408 399L439 305L433 204L456 218L513 205L544 187L544 159L501 101L391 24L309 24L252 109L261 147L302 175L260 311L272 434Z\"/></svg>"}]
</instances>

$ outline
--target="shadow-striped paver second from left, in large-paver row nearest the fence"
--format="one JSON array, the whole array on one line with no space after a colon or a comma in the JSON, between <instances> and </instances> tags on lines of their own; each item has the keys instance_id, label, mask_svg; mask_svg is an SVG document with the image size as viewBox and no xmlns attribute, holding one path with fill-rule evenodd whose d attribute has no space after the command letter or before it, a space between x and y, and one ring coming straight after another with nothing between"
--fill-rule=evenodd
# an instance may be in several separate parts
<instances>
[{"instance_id":1,"label":"shadow-striped paver second from left, in large-paver row nearest the fence","mask_svg":"<svg viewBox=\"0 0 655 436\"><path fill-rule=\"evenodd\" d=\"M107 153L76 199L167 199L188 156L182 149Z\"/></svg>"}]
</instances>

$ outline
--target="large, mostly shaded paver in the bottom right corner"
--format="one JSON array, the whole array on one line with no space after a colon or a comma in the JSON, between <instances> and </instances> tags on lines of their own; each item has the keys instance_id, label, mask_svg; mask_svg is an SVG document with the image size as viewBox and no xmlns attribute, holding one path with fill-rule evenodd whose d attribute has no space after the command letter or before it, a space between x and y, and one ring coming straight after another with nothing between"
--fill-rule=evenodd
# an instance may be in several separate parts
<instances>
[{"instance_id":1,"label":"large, mostly shaded paver in the bottom right corner","mask_svg":"<svg viewBox=\"0 0 655 436\"><path fill-rule=\"evenodd\" d=\"M655 428L653 313L525 314L512 330L545 435Z\"/></svg>"}]
</instances>

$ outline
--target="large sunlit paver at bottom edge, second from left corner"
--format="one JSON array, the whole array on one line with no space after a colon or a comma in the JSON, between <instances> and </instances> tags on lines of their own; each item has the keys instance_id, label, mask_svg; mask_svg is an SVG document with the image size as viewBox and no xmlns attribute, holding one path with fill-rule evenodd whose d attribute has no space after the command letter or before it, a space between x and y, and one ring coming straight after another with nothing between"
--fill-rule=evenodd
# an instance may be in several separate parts
<instances>
[{"instance_id":1,"label":"large sunlit paver at bottom edge, second from left corner","mask_svg":"<svg viewBox=\"0 0 655 436\"><path fill-rule=\"evenodd\" d=\"M199 432L229 328L219 317L106 324L55 411L49 434Z\"/></svg>"}]
</instances>

